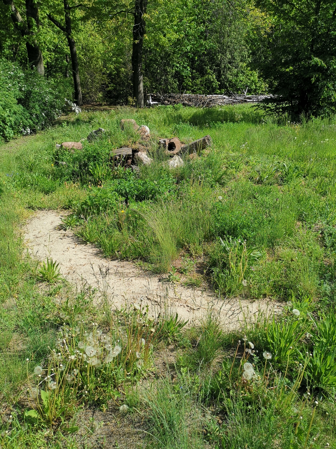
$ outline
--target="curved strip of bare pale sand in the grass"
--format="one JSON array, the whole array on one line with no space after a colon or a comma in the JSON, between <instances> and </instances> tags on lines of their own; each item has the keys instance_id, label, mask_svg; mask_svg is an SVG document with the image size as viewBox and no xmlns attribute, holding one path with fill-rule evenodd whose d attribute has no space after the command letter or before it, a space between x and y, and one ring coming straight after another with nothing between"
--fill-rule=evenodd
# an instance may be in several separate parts
<instances>
[{"instance_id":1,"label":"curved strip of bare pale sand in the grass","mask_svg":"<svg viewBox=\"0 0 336 449\"><path fill-rule=\"evenodd\" d=\"M63 214L57 211L38 211L27 221L23 231L30 253L39 260L47 257L57 260L62 275L73 284L81 286L82 282L87 282L96 287L97 300L107 292L112 307L139 303L142 299L152 313L168 308L190 322L201 319L212 307L230 329L236 327L244 315L253 318L259 309L268 313L280 311L279 304L266 301L219 300L209 290L174 286L161 282L161 277L145 272L131 262L108 260L94 245L82 242L70 230L60 230L58 225L62 217Z\"/></svg>"}]
</instances>

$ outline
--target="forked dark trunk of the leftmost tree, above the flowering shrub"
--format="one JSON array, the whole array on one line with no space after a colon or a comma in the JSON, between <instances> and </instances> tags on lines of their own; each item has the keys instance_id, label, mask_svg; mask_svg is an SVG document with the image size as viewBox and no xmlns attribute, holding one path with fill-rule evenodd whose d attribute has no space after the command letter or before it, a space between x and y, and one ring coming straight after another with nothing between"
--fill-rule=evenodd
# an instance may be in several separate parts
<instances>
[{"instance_id":1,"label":"forked dark trunk of the leftmost tree, above the flowering shrub","mask_svg":"<svg viewBox=\"0 0 336 449\"><path fill-rule=\"evenodd\" d=\"M27 56L30 66L35 66L40 75L44 75L43 56L35 38L35 30L39 31L39 8L34 0L26 0L26 23L18 12L13 0L3 0L10 7L10 15L15 29L26 38Z\"/></svg>"}]
</instances>

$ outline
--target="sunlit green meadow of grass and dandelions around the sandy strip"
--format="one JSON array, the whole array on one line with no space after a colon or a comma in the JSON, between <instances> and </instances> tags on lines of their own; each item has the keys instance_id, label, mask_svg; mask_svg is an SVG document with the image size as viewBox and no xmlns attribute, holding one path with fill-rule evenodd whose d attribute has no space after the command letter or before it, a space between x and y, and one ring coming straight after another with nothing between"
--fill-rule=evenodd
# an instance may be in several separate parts
<instances>
[{"instance_id":1,"label":"sunlit green meadow of grass and dandelions around the sandy strip","mask_svg":"<svg viewBox=\"0 0 336 449\"><path fill-rule=\"evenodd\" d=\"M139 141L124 118L151 130L138 173L111 157ZM56 149L98 127L83 150ZM168 168L159 138L207 134L210 149ZM336 118L245 105L83 111L1 144L1 447L336 448L335 156ZM283 313L228 332L211 310L191 327L99 307L27 253L36 209L68 209L62 226L107 257ZM123 443L105 418L81 424L93 410L113 410Z\"/></svg>"}]
</instances>

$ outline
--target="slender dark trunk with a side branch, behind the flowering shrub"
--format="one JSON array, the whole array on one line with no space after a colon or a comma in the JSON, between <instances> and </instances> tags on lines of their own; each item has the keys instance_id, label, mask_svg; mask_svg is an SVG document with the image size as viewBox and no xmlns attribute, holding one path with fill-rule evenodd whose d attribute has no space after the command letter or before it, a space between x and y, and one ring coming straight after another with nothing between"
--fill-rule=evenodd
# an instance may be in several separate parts
<instances>
[{"instance_id":1,"label":"slender dark trunk with a side branch, behind the flowering shrub","mask_svg":"<svg viewBox=\"0 0 336 449\"><path fill-rule=\"evenodd\" d=\"M73 39L72 29L71 29L71 9L78 8L81 5L69 6L68 0L63 0L64 3L64 15L65 15L65 26L63 26L56 18L52 16L52 14L48 13L47 17L52 21L54 25L56 25L61 31L63 31L66 35L69 44L70 57L71 57L71 65L72 65L72 75L73 75L73 86L75 90L75 101L78 106L83 105L82 100L82 89L81 82L79 78L79 67L78 67L78 58L77 58L77 50L76 43Z\"/></svg>"}]
</instances>

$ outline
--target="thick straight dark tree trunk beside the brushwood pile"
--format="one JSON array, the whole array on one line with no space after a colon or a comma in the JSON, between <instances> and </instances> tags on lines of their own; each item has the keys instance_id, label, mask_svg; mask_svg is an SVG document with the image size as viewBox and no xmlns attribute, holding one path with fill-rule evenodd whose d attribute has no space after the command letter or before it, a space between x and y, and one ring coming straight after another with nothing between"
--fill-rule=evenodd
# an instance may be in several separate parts
<instances>
[{"instance_id":1,"label":"thick straight dark tree trunk beside the brushwood pile","mask_svg":"<svg viewBox=\"0 0 336 449\"><path fill-rule=\"evenodd\" d=\"M142 75L142 45L146 33L146 22L143 18L146 14L147 0L135 0L134 26L133 26L133 96L135 106L143 108L143 75Z\"/></svg>"}]
</instances>

